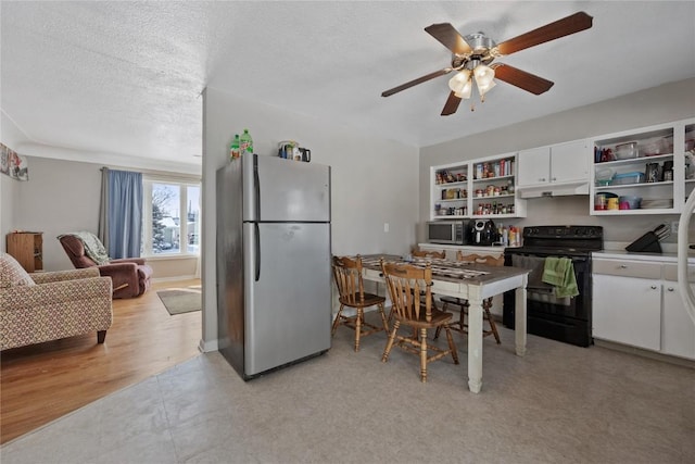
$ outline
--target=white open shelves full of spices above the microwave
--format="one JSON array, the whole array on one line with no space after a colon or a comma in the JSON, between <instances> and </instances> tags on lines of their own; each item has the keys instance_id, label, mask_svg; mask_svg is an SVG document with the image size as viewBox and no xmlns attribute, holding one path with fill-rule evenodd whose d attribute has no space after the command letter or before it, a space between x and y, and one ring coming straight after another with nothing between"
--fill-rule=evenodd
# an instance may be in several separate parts
<instances>
[{"instance_id":1,"label":"white open shelves full of spices above the microwave","mask_svg":"<svg viewBox=\"0 0 695 464\"><path fill-rule=\"evenodd\" d=\"M516 153L432 166L430 176L431 220L526 217Z\"/></svg>"}]
</instances>

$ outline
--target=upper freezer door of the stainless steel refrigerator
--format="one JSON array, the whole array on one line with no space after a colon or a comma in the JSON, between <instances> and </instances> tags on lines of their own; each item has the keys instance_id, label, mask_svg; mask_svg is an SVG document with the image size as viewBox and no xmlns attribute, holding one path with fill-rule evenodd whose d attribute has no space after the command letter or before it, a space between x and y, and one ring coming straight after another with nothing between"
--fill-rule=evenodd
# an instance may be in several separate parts
<instances>
[{"instance_id":1,"label":"upper freezer door of the stainless steel refrigerator","mask_svg":"<svg viewBox=\"0 0 695 464\"><path fill-rule=\"evenodd\" d=\"M254 154L243 176L244 221L330 221L329 166Z\"/></svg>"}]
</instances>

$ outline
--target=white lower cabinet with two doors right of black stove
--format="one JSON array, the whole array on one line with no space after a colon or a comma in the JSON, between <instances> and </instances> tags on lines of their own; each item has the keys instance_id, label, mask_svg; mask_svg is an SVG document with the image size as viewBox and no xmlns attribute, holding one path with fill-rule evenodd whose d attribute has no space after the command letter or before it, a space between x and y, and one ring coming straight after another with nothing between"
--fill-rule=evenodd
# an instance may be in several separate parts
<instances>
[{"instance_id":1,"label":"white lower cabinet with two doors right of black stove","mask_svg":"<svg viewBox=\"0 0 695 464\"><path fill-rule=\"evenodd\" d=\"M688 274L693 281L695 269ZM593 337L695 360L675 265L594 258Z\"/></svg>"}]
</instances>

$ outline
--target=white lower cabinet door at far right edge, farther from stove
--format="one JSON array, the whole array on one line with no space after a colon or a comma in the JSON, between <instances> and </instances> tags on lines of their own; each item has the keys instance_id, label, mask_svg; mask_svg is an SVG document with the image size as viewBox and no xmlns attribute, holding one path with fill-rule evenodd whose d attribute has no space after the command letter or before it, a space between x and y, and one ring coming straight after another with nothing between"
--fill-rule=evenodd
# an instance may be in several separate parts
<instances>
[{"instance_id":1,"label":"white lower cabinet door at far right edge, farther from stove","mask_svg":"<svg viewBox=\"0 0 695 464\"><path fill-rule=\"evenodd\" d=\"M695 360L695 323L685 311L678 283L669 280L664 281L661 351Z\"/></svg>"}]
</instances>

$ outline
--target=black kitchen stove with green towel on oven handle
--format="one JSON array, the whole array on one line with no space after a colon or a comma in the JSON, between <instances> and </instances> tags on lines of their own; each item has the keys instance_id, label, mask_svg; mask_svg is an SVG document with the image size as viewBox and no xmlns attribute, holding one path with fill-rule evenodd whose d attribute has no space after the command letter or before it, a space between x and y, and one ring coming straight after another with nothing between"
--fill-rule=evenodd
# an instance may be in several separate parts
<instances>
[{"instance_id":1,"label":"black kitchen stove with green towel on oven handle","mask_svg":"<svg viewBox=\"0 0 695 464\"><path fill-rule=\"evenodd\" d=\"M523 246L505 250L505 265L531 269L527 285L527 331L579 347L592 342L591 253L603 250L599 226L536 226L523 228ZM545 259L572 261L579 294L555 296L554 287L542 281ZM503 323L515 325L514 292L504 296Z\"/></svg>"}]
</instances>

